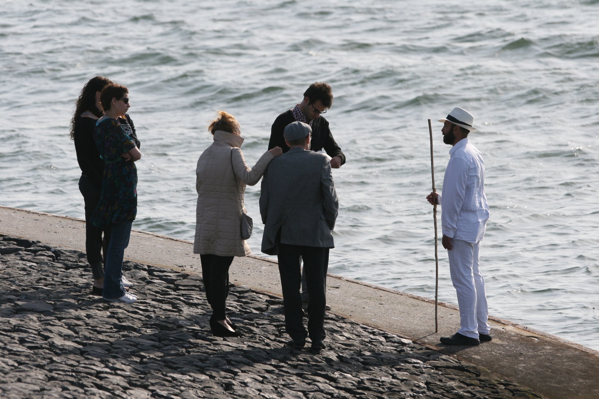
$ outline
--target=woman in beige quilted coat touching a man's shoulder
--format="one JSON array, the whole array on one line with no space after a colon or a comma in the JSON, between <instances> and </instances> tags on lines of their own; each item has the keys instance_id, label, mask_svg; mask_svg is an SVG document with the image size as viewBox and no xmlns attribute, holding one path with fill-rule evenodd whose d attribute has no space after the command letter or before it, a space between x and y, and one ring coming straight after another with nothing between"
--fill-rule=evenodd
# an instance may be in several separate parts
<instances>
[{"instance_id":1,"label":"woman in beige quilted coat touching a man's shoulder","mask_svg":"<svg viewBox=\"0 0 599 399\"><path fill-rule=\"evenodd\" d=\"M243 193L246 184L260 181L268 163L282 150L275 147L266 151L250 168L240 149L243 138L239 123L228 112L218 111L216 115L208 126L214 141L199 156L195 170L198 206L193 253L199 254L202 263L206 298L212 307L212 333L237 336L236 326L226 316L225 301L233 258L252 253L240 232L241 213L247 212Z\"/></svg>"}]
</instances>

